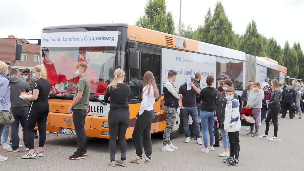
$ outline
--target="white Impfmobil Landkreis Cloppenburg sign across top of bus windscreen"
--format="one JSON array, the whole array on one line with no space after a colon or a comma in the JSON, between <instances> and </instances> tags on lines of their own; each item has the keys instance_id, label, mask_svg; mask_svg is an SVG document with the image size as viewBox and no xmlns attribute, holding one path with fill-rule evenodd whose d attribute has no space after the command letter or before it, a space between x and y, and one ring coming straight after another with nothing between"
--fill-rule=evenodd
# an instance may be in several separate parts
<instances>
[{"instance_id":1,"label":"white Impfmobil Landkreis Cloppenburg sign across top of bus windscreen","mask_svg":"<svg viewBox=\"0 0 304 171\"><path fill-rule=\"evenodd\" d=\"M42 33L41 47L117 46L118 31Z\"/></svg>"}]
</instances>

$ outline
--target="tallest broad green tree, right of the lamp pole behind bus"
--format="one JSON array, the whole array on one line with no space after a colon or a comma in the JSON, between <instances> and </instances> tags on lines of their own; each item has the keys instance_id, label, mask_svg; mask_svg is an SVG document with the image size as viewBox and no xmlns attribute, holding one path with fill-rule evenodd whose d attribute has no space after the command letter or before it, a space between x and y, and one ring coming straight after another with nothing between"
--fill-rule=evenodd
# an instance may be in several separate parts
<instances>
[{"instance_id":1,"label":"tallest broad green tree, right of the lamp pole behind bus","mask_svg":"<svg viewBox=\"0 0 304 171\"><path fill-rule=\"evenodd\" d=\"M210 8L208 9L204 25L199 26L195 30L193 39L213 45L238 49L236 35L232 30L232 23L229 21L221 2L216 3L213 15L211 15Z\"/></svg>"}]
</instances>

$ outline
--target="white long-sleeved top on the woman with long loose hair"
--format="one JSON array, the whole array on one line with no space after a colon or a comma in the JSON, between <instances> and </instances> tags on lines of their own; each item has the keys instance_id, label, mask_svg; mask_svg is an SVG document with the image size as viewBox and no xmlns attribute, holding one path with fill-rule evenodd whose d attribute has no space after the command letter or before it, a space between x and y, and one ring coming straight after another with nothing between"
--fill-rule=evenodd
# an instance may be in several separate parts
<instances>
[{"instance_id":1,"label":"white long-sleeved top on the woman with long loose hair","mask_svg":"<svg viewBox=\"0 0 304 171\"><path fill-rule=\"evenodd\" d=\"M148 94L148 88L147 88L147 86L145 86L143 88L143 100L141 101L139 115L143 114L143 111L145 111L145 110L147 110L147 111L153 110L154 102L155 102L155 97L154 97L153 87L151 86L150 94Z\"/></svg>"}]
</instances>

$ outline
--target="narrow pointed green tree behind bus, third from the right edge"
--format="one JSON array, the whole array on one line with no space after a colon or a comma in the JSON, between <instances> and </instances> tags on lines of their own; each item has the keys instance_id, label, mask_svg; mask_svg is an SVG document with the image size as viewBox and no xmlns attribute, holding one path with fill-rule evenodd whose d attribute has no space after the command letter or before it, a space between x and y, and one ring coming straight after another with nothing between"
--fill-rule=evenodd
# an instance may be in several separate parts
<instances>
[{"instance_id":1,"label":"narrow pointed green tree behind bus, third from the right edge","mask_svg":"<svg viewBox=\"0 0 304 171\"><path fill-rule=\"evenodd\" d=\"M266 56L279 63L279 65L284 66L282 48L278 45L277 41L272 37L268 40L266 44Z\"/></svg>"}]
</instances>

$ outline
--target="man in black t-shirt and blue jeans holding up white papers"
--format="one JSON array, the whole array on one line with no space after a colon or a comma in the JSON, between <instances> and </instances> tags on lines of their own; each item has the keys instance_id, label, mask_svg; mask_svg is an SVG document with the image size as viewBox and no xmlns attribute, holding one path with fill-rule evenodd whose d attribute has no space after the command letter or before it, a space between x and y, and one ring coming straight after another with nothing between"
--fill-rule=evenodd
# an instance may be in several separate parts
<instances>
[{"instance_id":1,"label":"man in black t-shirt and blue jeans holding up white papers","mask_svg":"<svg viewBox=\"0 0 304 171\"><path fill-rule=\"evenodd\" d=\"M200 93L199 86L197 84L194 84L194 78L191 78L191 83L189 83L189 86L191 86L190 90L187 90L187 83L182 84L179 87L179 93L182 94L182 120L183 120L183 126L184 126L184 133L185 133L185 143L190 143L190 131L189 131L189 115L192 118L192 126L195 126L195 137L196 137L196 143L199 145L202 145L202 141L200 139L200 128L199 128L199 114L197 113L196 108L196 93Z\"/></svg>"}]
</instances>

